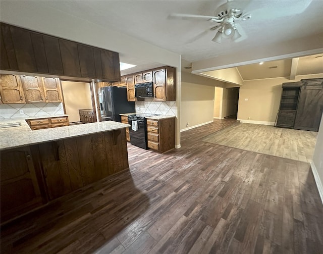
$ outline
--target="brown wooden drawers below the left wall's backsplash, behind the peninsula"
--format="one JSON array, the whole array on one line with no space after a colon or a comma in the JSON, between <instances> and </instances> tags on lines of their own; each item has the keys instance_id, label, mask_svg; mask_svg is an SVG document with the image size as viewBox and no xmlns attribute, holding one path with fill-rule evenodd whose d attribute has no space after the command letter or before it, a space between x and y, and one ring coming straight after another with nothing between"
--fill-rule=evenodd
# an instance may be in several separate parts
<instances>
[{"instance_id":1,"label":"brown wooden drawers below the left wall's backsplash, behind the peninsula","mask_svg":"<svg viewBox=\"0 0 323 254\"><path fill-rule=\"evenodd\" d=\"M69 125L69 119L64 117L40 118L26 120L32 130L40 130L47 128L56 128Z\"/></svg>"}]
</instances>

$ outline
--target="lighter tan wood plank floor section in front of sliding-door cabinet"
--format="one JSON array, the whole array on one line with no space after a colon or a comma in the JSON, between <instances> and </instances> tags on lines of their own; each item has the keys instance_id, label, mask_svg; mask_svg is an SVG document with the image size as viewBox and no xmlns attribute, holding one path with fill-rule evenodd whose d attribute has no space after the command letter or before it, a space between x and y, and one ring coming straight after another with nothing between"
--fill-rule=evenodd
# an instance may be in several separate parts
<instances>
[{"instance_id":1,"label":"lighter tan wood plank floor section in front of sliding-door cabinet","mask_svg":"<svg viewBox=\"0 0 323 254\"><path fill-rule=\"evenodd\" d=\"M314 131L236 123L226 129L204 136L201 141L311 162L316 137L317 132Z\"/></svg>"}]
</instances>

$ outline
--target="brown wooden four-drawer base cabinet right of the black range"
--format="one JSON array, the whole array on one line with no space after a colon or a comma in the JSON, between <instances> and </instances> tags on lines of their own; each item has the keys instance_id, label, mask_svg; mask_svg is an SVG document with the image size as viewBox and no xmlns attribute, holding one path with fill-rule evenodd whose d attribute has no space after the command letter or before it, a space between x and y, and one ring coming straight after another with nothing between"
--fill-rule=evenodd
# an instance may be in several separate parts
<instances>
[{"instance_id":1,"label":"brown wooden four-drawer base cabinet right of the black range","mask_svg":"<svg viewBox=\"0 0 323 254\"><path fill-rule=\"evenodd\" d=\"M175 117L147 118L148 147L165 153L175 148Z\"/></svg>"}]
</instances>

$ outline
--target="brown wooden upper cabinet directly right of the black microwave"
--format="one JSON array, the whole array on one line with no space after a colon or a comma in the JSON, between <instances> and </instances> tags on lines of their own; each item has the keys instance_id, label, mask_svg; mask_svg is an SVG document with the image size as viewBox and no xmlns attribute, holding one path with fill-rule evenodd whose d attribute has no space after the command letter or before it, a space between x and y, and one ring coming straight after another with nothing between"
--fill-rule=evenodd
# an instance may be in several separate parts
<instances>
[{"instance_id":1,"label":"brown wooden upper cabinet directly right of the black microwave","mask_svg":"<svg viewBox=\"0 0 323 254\"><path fill-rule=\"evenodd\" d=\"M176 100L176 71L173 67L162 67L152 71L154 100Z\"/></svg>"}]
</instances>

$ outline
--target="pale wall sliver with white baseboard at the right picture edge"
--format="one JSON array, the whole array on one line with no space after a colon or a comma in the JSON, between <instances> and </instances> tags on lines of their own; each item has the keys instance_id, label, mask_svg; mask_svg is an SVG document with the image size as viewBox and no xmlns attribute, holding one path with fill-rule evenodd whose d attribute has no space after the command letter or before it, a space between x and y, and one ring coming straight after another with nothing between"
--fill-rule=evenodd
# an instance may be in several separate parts
<instances>
[{"instance_id":1,"label":"pale wall sliver with white baseboard at the right picture edge","mask_svg":"<svg viewBox=\"0 0 323 254\"><path fill-rule=\"evenodd\" d=\"M323 117L319 126L316 145L311 163L316 185L323 202Z\"/></svg>"}]
</instances>

